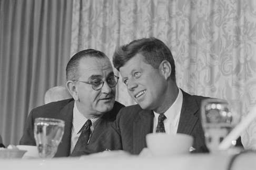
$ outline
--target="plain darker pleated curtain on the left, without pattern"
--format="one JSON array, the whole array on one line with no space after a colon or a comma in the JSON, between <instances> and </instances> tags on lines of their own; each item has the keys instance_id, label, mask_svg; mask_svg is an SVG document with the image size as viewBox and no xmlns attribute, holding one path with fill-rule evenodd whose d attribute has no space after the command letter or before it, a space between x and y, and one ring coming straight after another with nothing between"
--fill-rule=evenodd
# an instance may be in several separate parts
<instances>
[{"instance_id":1,"label":"plain darker pleated curtain on the left, without pattern","mask_svg":"<svg viewBox=\"0 0 256 170\"><path fill-rule=\"evenodd\" d=\"M0 135L17 144L32 108L65 83L73 1L0 1Z\"/></svg>"}]
</instances>

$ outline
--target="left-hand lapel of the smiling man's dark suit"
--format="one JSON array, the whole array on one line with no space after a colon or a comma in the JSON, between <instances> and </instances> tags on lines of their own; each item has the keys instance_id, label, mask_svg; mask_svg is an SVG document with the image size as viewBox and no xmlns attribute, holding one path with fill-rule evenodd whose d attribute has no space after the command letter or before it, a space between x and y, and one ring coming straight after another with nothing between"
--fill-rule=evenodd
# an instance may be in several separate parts
<instances>
[{"instance_id":1,"label":"left-hand lapel of the smiling man's dark suit","mask_svg":"<svg viewBox=\"0 0 256 170\"><path fill-rule=\"evenodd\" d=\"M139 154L141 150L146 147L146 134L153 131L153 117L152 111L143 110L133 122L133 154Z\"/></svg>"}]
</instances>

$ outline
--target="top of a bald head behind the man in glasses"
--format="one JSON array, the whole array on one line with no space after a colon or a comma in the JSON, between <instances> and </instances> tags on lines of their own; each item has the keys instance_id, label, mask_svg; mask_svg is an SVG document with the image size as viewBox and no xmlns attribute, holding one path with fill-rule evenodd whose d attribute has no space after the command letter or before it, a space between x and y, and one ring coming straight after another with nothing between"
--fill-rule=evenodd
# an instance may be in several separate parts
<instances>
[{"instance_id":1,"label":"top of a bald head behind the man in glasses","mask_svg":"<svg viewBox=\"0 0 256 170\"><path fill-rule=\"evenodd\" d=\"M44 95L44 103L47 104L51 102L62 101L68 98L72 98L72 96L67 91L66 87L55 86L46 91Z\"/></svg>"}]
</instances>

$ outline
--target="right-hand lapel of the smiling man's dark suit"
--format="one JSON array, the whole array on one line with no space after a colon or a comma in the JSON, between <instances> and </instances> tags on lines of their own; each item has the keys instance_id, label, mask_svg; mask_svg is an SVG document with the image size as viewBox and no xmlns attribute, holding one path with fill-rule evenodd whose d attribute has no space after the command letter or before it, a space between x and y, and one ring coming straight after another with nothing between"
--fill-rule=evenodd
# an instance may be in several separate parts
<instances>
[{"instance_id":1,"label":"right-hand lapel of the smiling man's dark suit","mask_svg":"<svg viewBox=\"0 0 256 170\"><path fill-rule=\"evenodd\" d=\"M199 106L191 95L184 91L182 91L182 94L183 102L177 133L191 135L196 122L199 121L198 115L195 115Z\"/></svg>"}]
</instances>

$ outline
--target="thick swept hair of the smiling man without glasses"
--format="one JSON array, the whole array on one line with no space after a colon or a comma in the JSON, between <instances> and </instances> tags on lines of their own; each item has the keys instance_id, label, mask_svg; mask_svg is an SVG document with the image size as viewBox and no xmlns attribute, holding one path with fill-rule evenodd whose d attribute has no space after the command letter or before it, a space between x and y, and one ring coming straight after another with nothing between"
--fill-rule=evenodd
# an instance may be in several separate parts
<instances>
[{"instance_id":1,"label":"thick swept hair of the smiling man without glasses","mask_svg":"<svg viewBox=\"0 0 256 170\"><path fill-rule=\"evenodd\" d=\"M119 71L136 54L142 54L145 62L154 68L159 68L162 61L166 60L171 64L171 78L175 81L175 64L170 49L159 39L154 37L142 38L132 41L116 49L113 55L113 65Z\"/></svg>"}]
</instances>

